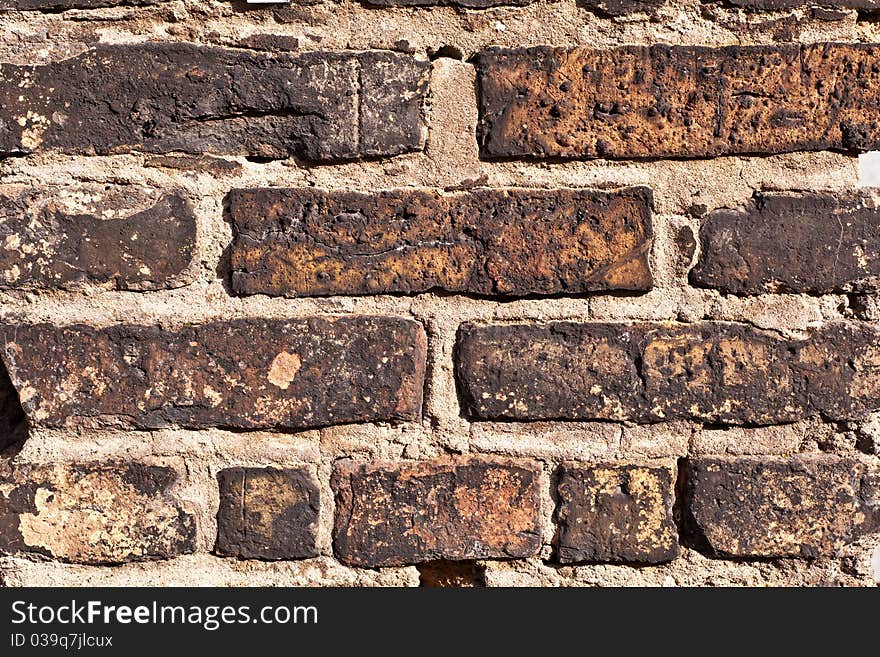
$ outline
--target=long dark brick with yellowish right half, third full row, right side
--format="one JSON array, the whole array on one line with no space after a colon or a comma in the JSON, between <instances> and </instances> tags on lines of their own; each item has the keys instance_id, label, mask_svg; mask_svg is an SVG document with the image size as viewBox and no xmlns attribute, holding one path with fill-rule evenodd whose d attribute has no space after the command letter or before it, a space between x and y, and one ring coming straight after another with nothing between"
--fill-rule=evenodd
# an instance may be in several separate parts
<instances>
[{"instance_id":1,"label":"long dark brick with yellowish right half, third full row, right side","mask_svg":"<svg viewBox=\"0 0 880 657\"><path fill-rule=\"evenodd\" d=\"M477 419L842 420L880 406L878 338L842 322L803 340L721 322L465 324L456 376Z\"/></svg>"}]
</instances>

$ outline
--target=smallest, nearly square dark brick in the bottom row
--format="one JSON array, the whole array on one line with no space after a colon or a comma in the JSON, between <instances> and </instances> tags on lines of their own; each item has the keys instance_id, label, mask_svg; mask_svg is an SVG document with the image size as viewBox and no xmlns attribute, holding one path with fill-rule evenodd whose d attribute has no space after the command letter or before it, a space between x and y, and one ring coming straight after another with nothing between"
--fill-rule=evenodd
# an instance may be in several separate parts
<instances>
[{"instance_id":1,"label":"smallest, nearly square dark brick in the bottom row","mask_svg":"<svg viewBox=\"0 0 880 657\"><path fill-rule=\"evenodd\" d=\"M217 544L223 556L318 556L318 486L303 469L228 468L217 474Z\"/></svg>"}]
</instances>

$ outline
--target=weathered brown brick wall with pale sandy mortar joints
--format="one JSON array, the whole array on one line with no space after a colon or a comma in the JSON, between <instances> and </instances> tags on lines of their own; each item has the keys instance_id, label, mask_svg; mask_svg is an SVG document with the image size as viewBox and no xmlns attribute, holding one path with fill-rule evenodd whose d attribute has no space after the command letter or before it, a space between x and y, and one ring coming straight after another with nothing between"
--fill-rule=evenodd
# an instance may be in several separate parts
<instances>
[{"instance_id":1,"label":"weathered brown brick wall with pale sandy mortar joints","mask_svg":"<svg viewBox=\"0 0 880 657\"><path fill-rule=\"evenodd\" d=\"M867 0L0 0L0 582L880 582Z\"/></svg>"}]
</instances>

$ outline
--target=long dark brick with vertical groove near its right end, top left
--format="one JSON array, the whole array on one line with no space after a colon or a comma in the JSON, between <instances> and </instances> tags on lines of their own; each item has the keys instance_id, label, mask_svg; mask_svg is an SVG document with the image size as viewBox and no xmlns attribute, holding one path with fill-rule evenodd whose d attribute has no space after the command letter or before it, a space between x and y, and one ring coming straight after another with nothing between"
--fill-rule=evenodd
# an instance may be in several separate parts
<instances>
[{"instance_id":1,"label":"long dark brick with vertical groove near its right end, top left","mask_svg":"<svg viewBox=\"0 0 880 657\"><path fill-rule=\"evenodd\" d=\"M183 43L2 64L0 154L397 155L423 147L428 69L395 53L270 55Z\"/></svg>"}]
</instances>

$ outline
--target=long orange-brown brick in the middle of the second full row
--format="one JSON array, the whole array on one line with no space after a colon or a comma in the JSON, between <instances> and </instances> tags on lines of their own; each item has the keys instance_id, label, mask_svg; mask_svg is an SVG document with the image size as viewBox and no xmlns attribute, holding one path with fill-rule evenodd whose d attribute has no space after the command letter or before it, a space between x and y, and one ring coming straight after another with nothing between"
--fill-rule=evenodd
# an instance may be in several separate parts
<instances>
[{"instance_id":1,"label":"long orange-brown brick in the middle of the second full row","mask_svg":"<svg viewBox=\"0 0 880 657\"><path fill-rule=\"evenodd\" d=\"M651 192L375 194L238 189L238 294L581 293L651 288Z\"/></svg>"}]
</instances>

